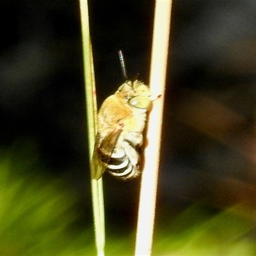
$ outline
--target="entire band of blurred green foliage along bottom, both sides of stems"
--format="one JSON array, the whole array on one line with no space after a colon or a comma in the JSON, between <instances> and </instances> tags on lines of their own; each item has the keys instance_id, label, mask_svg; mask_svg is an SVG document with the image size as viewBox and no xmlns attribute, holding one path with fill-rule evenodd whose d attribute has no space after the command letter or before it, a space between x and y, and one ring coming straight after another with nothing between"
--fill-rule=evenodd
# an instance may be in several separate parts
<instances>
[{"instance_id":1,"label":"entire band of blurred green foliage along bottom, both sides of stems","mask_svg":"<svg viewBox=\"0 0 256 256\"><path fill-rule=\"evenodd\" d=\"M0 148L0 255L96 255L92 228L77 228L84 216L76 197L40 163L33 141ZM241 207L212 214L193 205L175 220L166 212L155 227L152 255L256 255L253 221L237 212ZM134 243L135 231L123 234L120 227L108 234L106 255L133 255Z\"/></svg>"}]
</instances>

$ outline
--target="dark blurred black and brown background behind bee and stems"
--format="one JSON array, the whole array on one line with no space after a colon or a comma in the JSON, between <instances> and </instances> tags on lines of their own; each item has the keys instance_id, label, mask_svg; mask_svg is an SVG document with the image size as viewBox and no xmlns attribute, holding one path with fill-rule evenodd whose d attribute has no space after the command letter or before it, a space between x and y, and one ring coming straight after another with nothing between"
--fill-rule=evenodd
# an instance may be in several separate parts
<instances>
[{"instance_id":1,"label":"dark blurred black and brown background behind bee and stems","mask_svg":"<svg viewBox=\"0 0 256 256\"><path fill-rule=\"evenodd\" d=\"M100 105L124 80L120 49L129 76L148 83L154 1L89 9ZM35 140L90 212L79 2L1 1L0 19L0 145ZM173 1L157 221L198 201L256 209L255 27L255 1ZM113 232L136 227L139 185L104 177Z\"/></svg>"}]
</instances>

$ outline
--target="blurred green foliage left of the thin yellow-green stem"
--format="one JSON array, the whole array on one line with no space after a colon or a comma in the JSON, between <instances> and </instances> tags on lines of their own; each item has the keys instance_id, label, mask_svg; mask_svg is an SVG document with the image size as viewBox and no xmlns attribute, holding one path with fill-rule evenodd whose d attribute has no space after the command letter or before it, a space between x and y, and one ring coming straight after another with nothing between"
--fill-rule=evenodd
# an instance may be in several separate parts
<instances>
[{"instance_id":1,"label":"blurred green foliage left of the thin yellow-green stem","mask_svg":"<svg viewBox=\"0 0 256 256\"><path fill-rule=\"evenodd\" d=\"M92 230L73 227L76 198L63 180L42 174L35 143L19 140L0 152L0 255L93 252Z\"/></svg>"}]
</instances>

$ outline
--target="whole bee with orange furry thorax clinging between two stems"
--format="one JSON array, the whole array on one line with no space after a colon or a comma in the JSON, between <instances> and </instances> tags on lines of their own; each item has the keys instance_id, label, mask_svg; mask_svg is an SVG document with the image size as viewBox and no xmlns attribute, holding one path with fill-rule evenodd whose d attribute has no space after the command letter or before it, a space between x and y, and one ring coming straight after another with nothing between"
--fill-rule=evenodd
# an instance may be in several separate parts
<instances>
[{"instance_id":1,"label":"whole bee with orange furry thorax clinging between two stems","mask_svg":"<svg viewBox=\"0 0 256 256\"><path fill-rule=\"evenodd\" d=\"M152 100L150 88L136 79L125 81L103 102L98 113L92 179L100 179L105 171L122 179L140 175L138 148L143 143Z\"/></svg>"}]
</instances>

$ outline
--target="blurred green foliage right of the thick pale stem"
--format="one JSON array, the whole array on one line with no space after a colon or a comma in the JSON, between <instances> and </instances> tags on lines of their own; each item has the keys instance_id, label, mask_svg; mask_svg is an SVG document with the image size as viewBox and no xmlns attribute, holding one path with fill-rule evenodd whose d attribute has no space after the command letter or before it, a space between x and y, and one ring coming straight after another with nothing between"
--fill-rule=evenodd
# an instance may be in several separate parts
<instances>
[{"instance_id":1,"label":"blurred green foliage right of the thick pale stem","mask_svg":"<svg viewBox=\"0 0 256 256\"><path fill-rule=\"evenodd\" d=\"M239 207L216 215L193 205L178 218L157 228L153 255L256 255L250 232L253 221L238 216Z\"/></svg>"}]
</instances>

